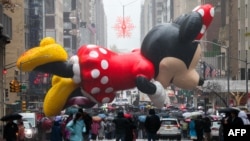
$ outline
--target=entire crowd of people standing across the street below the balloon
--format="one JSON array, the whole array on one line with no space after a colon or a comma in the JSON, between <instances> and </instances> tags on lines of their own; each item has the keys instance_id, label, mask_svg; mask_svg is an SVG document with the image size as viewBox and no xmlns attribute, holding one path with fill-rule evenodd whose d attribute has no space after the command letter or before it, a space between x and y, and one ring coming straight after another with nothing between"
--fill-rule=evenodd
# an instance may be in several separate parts
<instances>
[{"instance_id":1,"label":"entire crowd of people standing across the street below the balloon","mask_svg":"<svg viewBox=\"0 0 250 141\"><path fill-rule=\"evenodd\" d=\"M145 113L143 113L145 114ZM220 122L219 141L223 140L223 131L250 125L245 111L231 110L224 113ZM44 117L38 123L37 139L46 141L101 141L115 139L116 141L135 141L137 138L148 141L157 140L157 131L161 126L160 116L155 109L148 109L145 119L139 120L137 115L124 110L115 112L113 118L90 115L81 108L66 117ZM193 141L212 141L212 121L208 116L193 116L190 121L179 119L182 138ZM46 123L46 124L45 124ZM44 136L43 136L43 135ZM22 120L8 120L4 126L6 141L24 141L24 126Z\"/></svg>"}]
</instances>

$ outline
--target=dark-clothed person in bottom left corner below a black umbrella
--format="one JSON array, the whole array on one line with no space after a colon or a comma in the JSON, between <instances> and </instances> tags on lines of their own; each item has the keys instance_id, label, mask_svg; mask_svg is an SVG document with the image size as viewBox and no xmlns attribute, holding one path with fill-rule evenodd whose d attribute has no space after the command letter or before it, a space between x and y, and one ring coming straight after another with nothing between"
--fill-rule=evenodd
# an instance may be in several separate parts
<instances>
[{"instance_id":1,"label":"dark-clothed person in bottom left corner below a black umbrella","mask_svg":"<svg viewBox=\"0 0 250 141\"><path fill-rule=\"evenodd\" d=\"M18 134L18 126L13 120L8 120L4 126L3 138L6 141L16 141Z\"/></svg>"}]
</instances>

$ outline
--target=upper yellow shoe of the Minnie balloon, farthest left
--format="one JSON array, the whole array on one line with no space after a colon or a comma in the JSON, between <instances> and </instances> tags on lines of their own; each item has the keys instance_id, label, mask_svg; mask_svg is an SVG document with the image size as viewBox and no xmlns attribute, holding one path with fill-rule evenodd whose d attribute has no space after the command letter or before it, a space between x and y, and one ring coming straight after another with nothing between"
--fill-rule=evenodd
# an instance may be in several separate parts
<instances>
[{"instance_id":1,"label":"upper yellow shoe of the Minnie balloon, farthest left","mask_svg":"<svg viewBox=\"0 0 250 141\"><path fill-rule=\"evenodd\" d=\"M67 61L68 54L65 49L57 44L51 37L41 40L39 47L34 47L24 52L17 60L16 66L22 71L32 71L37 66L51 62Z\"/></svg>"}]
</instances>

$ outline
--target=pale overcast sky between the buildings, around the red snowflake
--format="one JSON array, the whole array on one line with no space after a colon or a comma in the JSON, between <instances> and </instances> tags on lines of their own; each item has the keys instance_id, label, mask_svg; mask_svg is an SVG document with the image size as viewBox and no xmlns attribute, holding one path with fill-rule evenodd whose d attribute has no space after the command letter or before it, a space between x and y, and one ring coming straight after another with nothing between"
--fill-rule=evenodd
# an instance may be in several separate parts
<instances>
[{"instance_id":1,"label":"pale overcast sky between the buildings, around the red snowflake","mask_svg":"<svg viewBox=\"0 0 250 141\"><path fill-rule=\"evenodd\" d=\"M116 45L122 52L130 52L134 48L140 47L140 13L141 0L103 0L105 13L107 16L108 47ZM129 38L118 38L114 25L117 18L129 16L135 28L131 31Z\"/></svg>"}]
</instances>

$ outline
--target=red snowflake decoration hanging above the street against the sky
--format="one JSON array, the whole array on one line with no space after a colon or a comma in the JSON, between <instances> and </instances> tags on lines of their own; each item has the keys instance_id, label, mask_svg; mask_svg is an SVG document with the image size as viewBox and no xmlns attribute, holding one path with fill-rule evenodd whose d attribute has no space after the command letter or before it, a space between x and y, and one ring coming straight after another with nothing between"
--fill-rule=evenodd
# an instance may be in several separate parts
<instances>
[{"instance_id":1,"label":"red snowflake decoration hanging above the street against the sky","mask_svg":"<svg viewBox=\"0 0 250 141\"><path fill-rule=\"evenodd\" d=\"M129 38L135 26L131 23L130 17L118 17L113 27L117 31L118 38Z\"/></svg>"}]
</instances>

